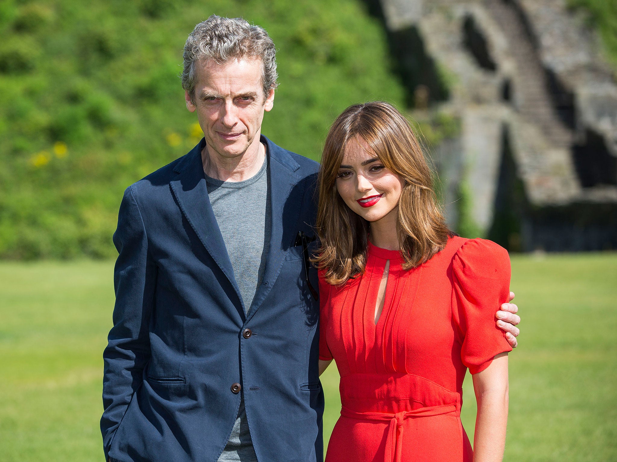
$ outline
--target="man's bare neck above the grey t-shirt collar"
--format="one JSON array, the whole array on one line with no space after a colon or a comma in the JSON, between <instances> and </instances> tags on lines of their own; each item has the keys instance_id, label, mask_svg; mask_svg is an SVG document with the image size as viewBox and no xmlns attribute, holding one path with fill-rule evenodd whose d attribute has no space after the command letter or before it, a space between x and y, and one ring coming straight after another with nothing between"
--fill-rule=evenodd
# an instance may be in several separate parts
<instances>
[{"instance_id":1,"label":"man's bare neck above the grey t-shirt collar","mask_svg":"<svg viewBox=\"0 0 617 462\"><path fill-rule=\"evenodd\" d=\"M217 180L230 182L244 181L255 176L262 168L266 153L259 137L255 139L257 142L251 143L244 153L231 158L211 152L206 145L201 152L205 174Z\"/></svg>"}]
</instances>

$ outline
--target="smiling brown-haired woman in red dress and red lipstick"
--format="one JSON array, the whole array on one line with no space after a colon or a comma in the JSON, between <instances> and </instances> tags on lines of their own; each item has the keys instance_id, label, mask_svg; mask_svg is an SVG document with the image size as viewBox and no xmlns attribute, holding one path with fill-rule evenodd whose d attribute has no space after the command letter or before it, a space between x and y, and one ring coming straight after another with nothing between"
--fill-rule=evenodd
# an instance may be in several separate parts
<instances>
[{"instance_id":1,"label":"smiling brown-haired woman in red dress and red lipstick","mask_svg":"<svg viewBox=\"0 0 617 462\"><path fill-rule=\"evenodd\" d=\"M510 344L505 249L444 224L431 171L391 105L354 105L328 134L320 172L320 373L336 360L341 418L326 462L503 457ZM460 421L467 369L474 452Z\"/></svg>"}]
</instances>

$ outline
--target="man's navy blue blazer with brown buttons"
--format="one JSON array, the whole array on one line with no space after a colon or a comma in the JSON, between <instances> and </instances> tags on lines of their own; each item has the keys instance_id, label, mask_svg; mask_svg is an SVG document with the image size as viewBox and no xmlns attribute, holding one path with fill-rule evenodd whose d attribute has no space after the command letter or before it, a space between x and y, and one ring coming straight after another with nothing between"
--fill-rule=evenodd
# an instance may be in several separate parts
<instances>
[{"instance_id":1,"label":"man's navy blue blazer with brown buttons","mask_svg":"<svg viewBox=\"0 0 617 462\"><path fill-rule=\"evenodd\" d=\"M295 245L299 231L314 235L318 164L262 142L271 238L246 316L206 190L205 140L126 189L103 354L111 460L216 461L238 413L237 384L260 461L323 460L319 306ZM309 277L317 288L314 269Z\"/></svg>"}]
</instances>

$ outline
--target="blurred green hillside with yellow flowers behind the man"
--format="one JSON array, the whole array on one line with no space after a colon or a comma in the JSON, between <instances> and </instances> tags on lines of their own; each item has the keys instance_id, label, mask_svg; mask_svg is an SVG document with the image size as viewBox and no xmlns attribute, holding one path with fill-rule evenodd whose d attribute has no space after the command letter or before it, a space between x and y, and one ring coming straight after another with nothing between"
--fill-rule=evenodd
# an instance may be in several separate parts
<instances>
[{"instance_id":1,"label":"blurred green hillside with yellow flowers behind the man","mask_svg":"<svg viewBox=\"0 0 617 462\"><path fill-rule=\"evenodd\" d=\"M317 159L362 100L402 101L381 25L362 2L0 1L0 257L113 256L123 190L201 131L177 75L210 14L262 25L280 89L263 132Z\"/></svg>"}]
</instances>

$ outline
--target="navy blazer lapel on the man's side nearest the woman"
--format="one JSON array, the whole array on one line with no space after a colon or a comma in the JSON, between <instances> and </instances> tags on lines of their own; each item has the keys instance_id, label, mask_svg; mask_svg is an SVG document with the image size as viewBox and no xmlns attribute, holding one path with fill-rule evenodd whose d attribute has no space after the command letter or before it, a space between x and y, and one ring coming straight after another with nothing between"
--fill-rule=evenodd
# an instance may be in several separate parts
<instances>
[{"instance_id":1,"label":"navy blazer lapel on the man's side nearest the woman","mask_svg":"<svg viewBox=\"0 0 617 462\"><path fill-rule=\"evenodd\" d=\"M270 194L270 245L266 258L266 267L262 284L255 292L255 298L247 314L247 321L259 309L263 300L278 277L283 264L285 252L294 245L297 234L297 221L300 215L300 203L304 196L302 177L295 172L299 164L286 150L278 147L267 137L261 137L268 147L268 192Z\"/></svg>"}]
</instances>

